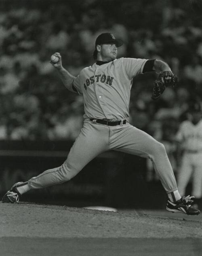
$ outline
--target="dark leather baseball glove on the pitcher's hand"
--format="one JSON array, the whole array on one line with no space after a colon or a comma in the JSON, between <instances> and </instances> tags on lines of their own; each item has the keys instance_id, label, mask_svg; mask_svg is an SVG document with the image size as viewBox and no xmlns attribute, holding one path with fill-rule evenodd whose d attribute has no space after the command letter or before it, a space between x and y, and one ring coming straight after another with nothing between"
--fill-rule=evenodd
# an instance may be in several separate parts
<instances>
[{"instance_id":1,"label":"dark leather baseball glove on the pitcher's hand","mask_svg":"<svg viewBox=\"0 0 202 256\"><path fill-rule=\"evenodd\" d=\"M173 74L172 71L162 71L160 72L158 78L154 81L153 93L151 99L158 99L160 95L164 92L166 87L173 86L177 84L177 76Z\"/></svg>"}]
</instances>

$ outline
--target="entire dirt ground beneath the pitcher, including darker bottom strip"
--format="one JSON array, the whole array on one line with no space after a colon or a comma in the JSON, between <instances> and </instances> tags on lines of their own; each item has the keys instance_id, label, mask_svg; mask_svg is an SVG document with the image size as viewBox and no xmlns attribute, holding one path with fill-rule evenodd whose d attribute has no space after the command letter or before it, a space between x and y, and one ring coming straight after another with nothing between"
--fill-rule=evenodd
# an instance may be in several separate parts
<instances>
[{"instance_id":1,"label":"entire dirt ground beneath the pitcher, including darker bottom strip","mask_svg":"<svg viewBox=\"0 0 202 256\"><path fill-rule=\"evenodd\" d=\"M0 256L202 255L200 215L141 212L0 203Z\"/></svg>"}]
</instances>

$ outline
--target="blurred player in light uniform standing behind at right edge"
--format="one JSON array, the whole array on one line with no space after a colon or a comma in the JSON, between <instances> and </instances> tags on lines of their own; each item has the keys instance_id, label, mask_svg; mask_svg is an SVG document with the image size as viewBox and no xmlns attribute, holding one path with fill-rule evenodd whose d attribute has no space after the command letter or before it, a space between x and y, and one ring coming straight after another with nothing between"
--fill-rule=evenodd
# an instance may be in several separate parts
<instances>
[{"instance_id":1,"label":"blurred player in light uniform standing behind at right edge","mask_svg":"<svg viewBox=\"0 0 202 256\"><path fill-rule=\"evenodd\" d=\"M200 102L191 102L188 120L183 121L176 135L180 143L181 165L177 178L181 195L189 181L192 183L192 194L197 205L202 203L202 113Z\"/></svg>"}]
</instances>

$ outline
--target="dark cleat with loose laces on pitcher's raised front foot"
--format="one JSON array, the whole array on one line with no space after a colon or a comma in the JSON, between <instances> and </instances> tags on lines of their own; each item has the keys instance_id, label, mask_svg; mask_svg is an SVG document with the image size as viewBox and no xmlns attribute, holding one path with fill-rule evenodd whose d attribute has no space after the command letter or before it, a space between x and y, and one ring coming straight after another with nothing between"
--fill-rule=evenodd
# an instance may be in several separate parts
<instances>
[{"instance_id":1,"label":"dark cleat with loose laces on pitcher's raised front foot","mask_svg":"<svg viewBox=\"0 0 202 256\"><path fill-rule=\"evenodd\" d=\"M166 210L169 212L181 212L187 215L198 215L200 214L200 210L191 206L194 202L194 197L181 197L176 202L171 202L170 200L167 201Z\"/></svg>"}]
</instances>

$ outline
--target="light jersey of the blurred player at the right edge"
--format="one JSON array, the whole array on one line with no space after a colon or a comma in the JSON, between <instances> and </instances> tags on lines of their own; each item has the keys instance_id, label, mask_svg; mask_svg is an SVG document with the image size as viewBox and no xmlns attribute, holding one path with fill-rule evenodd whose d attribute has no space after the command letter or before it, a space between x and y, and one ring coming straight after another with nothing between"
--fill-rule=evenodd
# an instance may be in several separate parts
<instances>
[{"instance_id":1,"label":"light jersey of the blurred player at the right edge","mask_svg":"<svg viewBox=\"0 0 202 256\"><path fill-rule=\"evenodd\" d=\"M188 120L182 122L176 139L185 150L202 150L202 120L196 125Z\"/></svg>"}]
</instances>

